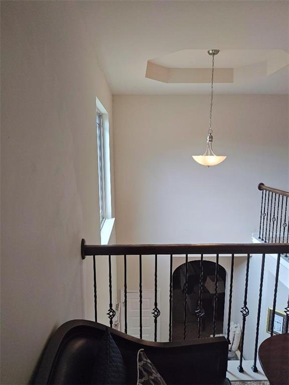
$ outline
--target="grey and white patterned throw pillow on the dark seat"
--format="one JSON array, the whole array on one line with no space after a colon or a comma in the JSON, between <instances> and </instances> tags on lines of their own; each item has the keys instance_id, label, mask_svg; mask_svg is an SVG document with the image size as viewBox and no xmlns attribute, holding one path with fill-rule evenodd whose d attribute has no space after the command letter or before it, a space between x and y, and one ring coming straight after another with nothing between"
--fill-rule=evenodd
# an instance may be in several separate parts
<instances>
[{"instance_id":1,"label":"grey and white patterned throw pillow on the dark seat","mask_svg":"<svg viewBox=\"0 0 289 385\"><path fill-rule=\"evenodd\" d=\"M166 385L164 378L143 349L137 353L137 385Z\"/></svg>"}]
</instances>

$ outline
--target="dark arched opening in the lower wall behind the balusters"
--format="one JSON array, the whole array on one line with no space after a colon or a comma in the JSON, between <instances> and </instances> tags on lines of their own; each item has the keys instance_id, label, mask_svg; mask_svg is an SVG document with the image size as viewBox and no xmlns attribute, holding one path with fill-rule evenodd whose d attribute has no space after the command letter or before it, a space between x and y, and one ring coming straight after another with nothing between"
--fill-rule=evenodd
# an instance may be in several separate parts
<instances>
[{"instance_id":1,"label":"dark arched opening in the lower wall behind the balusters","mask_svg":"<svg viewBox=\"0 0 289 385\"><path fill-rule=\"evenodd\" d=\"M203 261L203 309L201 337L209 337L213 332L213 314L215 298L215 269L216 263ZM219 265L218 268L218 306L216 334L223 332L226 270ZM173 273L173 341L182 340L184 337L184 285L185 264L177 267ZM187 339L198 336L198 317L196 310L199 303L200 287L200 261L188 263L188 299L187 299Z\"/></svg>"}]
</instances>

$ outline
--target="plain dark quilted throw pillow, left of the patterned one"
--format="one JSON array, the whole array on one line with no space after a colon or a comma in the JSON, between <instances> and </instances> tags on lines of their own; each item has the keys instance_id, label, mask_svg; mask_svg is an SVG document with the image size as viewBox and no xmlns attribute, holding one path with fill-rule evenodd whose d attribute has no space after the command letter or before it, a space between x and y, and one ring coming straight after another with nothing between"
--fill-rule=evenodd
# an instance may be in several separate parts
<instances>
[{"instance_id":1,"label":"plain dark quilted throw pillow, left of the patterned one","mask_svg":"<svg viewBox=\"0 0 289 385\"><path fill-rule=\"evenodd\" d=\"M96 385L122 385L127 380L122 355L107 329L100 341L93 378Z\"/></svg>"}]
</instances>

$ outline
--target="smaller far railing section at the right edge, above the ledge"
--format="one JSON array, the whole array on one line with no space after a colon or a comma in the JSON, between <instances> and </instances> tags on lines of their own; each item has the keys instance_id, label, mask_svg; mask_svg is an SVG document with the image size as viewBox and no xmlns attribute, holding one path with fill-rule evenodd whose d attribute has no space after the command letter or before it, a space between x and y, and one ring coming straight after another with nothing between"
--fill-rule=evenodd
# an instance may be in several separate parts
<instances>
[{"instance_id":1,"label":"smaller far railing section at the right edge, above the ledge","mask_svg":"<svg viewBox=\"0 0 289 385\"><path fill-rule=\"evenodd\" d=\"M289 192L265 186L264 183L259 183L258 189L262 191L259 239L264 243L288 243Z\"/></svg>"}]
</instances>

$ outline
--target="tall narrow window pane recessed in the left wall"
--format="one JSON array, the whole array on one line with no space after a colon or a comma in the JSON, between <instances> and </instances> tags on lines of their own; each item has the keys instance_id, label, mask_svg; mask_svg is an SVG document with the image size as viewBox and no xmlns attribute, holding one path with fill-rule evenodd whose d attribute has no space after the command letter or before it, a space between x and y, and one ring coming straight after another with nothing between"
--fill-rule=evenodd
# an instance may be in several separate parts
<instances>
[{"instance_id":1,"label":"tall narrow window pane recessed in the left wall","mask_svg":"<svg viewBox=\"0 0 289 385\"><path fill-rule=\"evenodd\" d=\"M98 149L99 216L100 216L100 229L102 229L102 226L106 218L106 212L105 212L103 117L99 111L97 111L97 114L96 114L96 128L97 128L97 149Z\"/></svg>"}]
</instances>

